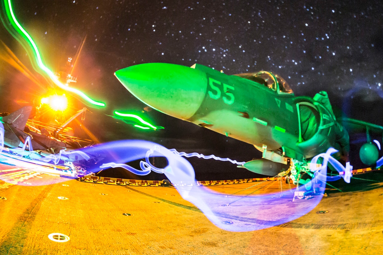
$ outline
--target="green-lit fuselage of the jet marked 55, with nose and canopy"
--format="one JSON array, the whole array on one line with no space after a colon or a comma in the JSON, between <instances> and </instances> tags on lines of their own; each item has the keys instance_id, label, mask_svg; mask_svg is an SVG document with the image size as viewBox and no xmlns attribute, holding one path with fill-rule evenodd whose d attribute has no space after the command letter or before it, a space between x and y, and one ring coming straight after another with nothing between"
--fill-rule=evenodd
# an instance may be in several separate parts
<instances>
[{"instance_id":1,"label":"green-lit fuselage of the jet marked 55, with nose and canopy","mask_svg":"<svg viewBox=\"0 0 383 255\"><path fill-rule=\"evenodd\" d=\"M199 64L148 63L115 75L146 105L253 144L263 160L243 165L252 172L275 176L290 165L307 165L329 147L348 155L349 135L336 121L327 93L294 96L271 72L226 75Z\"/></svg>"}]
</instances>

